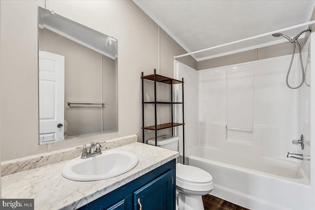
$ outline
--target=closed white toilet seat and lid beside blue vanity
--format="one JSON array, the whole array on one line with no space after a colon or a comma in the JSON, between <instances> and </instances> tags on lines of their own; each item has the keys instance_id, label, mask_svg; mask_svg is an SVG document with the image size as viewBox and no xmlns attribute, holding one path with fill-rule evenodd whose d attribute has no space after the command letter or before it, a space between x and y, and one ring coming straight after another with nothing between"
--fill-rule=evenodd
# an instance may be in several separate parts
<instances>
[{"instance_id":1,"label":"closed white toilet seat and lid beside blue vanity","mask_svg":"<svg viewBox=\"0 0 315 210\"><path fill-rule=\"evenodd\" d=\"M200 168L177 163L176 186L179 189L205 192L213 189L213 180L208 172Z\"/></svg>"}]
</instances>

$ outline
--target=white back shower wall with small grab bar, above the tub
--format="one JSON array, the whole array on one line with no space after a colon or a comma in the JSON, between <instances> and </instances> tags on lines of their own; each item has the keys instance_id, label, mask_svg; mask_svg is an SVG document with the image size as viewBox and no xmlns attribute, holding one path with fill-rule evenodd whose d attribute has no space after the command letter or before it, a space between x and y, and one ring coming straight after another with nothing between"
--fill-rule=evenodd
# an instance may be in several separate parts
<instances>
[{"instance_id":1,"label":"white back shower wall with small grab bar, above the tub","mask_svg":"<svg viewBox=\"0 0 315 210\"><path fill-rule=\"evenodd\" d=\"M239 156L298 152L298 90L285 84L289 56L198 71L199 145ZM298 83L294 58L290 84Z\"/></svg>"}]
</instances>

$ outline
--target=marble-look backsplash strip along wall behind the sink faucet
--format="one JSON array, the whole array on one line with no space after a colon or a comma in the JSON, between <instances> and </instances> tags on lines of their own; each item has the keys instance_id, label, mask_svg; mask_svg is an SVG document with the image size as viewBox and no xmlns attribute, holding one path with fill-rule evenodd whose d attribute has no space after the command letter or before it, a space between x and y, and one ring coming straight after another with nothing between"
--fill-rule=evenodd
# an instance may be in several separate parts
<instances>
[{"instance_id":1,"label":"marble-look backsplash strip along wall behind the sink faucet","mask_svg":"<svg viewBox=\"0 0 315 210\"><path fill-rule=\"evenodd\" d=\"M130 135L125 137L120 137L116 139L100 141L102 150L108 150L131 144L138 141L137 135ZM87 149L90 147L87 145ZM1 176L7 176L10 174L28 171L31 169L47 166L54 163L59 163L64 160L70 160L81 155L83 145L75 148L68 148L64 150L57 150L48 153L42 153L37 155L32 155L28 157L23 157L20 159L9 160L1 162Z\"/></svg>"}]
</instances>

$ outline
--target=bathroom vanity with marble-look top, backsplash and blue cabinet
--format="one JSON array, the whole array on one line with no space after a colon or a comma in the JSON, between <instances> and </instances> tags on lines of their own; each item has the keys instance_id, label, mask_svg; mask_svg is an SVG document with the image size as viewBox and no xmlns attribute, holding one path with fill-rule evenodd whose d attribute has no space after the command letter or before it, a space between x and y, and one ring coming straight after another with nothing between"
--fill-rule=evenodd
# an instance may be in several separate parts
<instances>
[{"instance_id":1,"label":"bathroom vanity with marble-look top, backsplash and blue cabinet","mask_svg":"<svg viewBox=\"0 0 315 210\"><path fill-rule=\"evenodd\" d=\"M32 198L35 210L136 210L140 204L150 210L175 209L177 151L139 143L136 135L101 145L104 152L105 148L132 152L139 162L120 176L98 181L73 181L62 176L63 167L81 155L81 148L2 162L1 171L6 175L1 179L2 198ZM59 162L51 162L56 159Z\"/></svg>"}]
</instances>

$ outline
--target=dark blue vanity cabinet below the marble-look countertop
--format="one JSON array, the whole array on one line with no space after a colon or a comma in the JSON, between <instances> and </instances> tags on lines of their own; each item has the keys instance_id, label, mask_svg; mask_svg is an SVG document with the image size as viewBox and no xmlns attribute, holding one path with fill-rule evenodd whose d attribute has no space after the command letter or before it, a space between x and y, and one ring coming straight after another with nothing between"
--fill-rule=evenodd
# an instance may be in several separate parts
<instances>
[{"instance_id":1,"label":"dark blue vanity cabinet below the marble-look countertop","mask_svg":"<svg viewBox=\"0 0 315 210\"><path fill-rule=\"evenodd\" d=\"M175 210L173 159L120 188L92 201L79 210Z\"/></svg>"}]
</instances>

